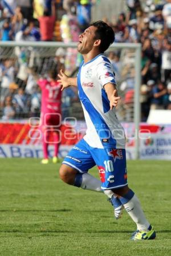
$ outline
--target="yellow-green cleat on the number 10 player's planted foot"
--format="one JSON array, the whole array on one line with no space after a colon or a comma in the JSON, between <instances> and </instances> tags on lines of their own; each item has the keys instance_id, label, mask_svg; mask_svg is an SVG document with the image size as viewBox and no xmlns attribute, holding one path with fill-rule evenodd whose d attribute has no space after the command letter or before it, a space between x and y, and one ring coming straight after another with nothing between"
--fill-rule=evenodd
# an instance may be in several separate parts
<instances>
[{"instance_id":1,"label":"yellow-green cleat on the number 10 player's planted foot","mask_svg":"<svg viewBox=\"0 0 171 256\"><path fill-rule=\"evenodd\" d=\"M133 241L140 241L140 240L152 240L156 238L156 232L154 231L153 227L149 226L149 231L140 231L136 230L131 237Z\"/></svg>"}]
</instances>

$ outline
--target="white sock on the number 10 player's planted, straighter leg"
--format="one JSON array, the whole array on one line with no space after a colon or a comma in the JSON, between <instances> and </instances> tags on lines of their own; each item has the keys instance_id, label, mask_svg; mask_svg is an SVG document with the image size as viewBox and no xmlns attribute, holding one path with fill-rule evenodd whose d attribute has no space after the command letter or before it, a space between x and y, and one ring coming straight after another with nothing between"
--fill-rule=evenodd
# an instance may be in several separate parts
<instances>
[{"instance_id":1,"label":"white sock on the number 10 player's planted, straighter leg","mask_svg":"<svg viewBox=\"0 0 171 256\"><path fill-rule=\"evenodd\" d=\"M140 201L134 195L131 200L124 204L124 208L132 218L132 220L136 223L138 230L147 230L150 226L149 222L146 220L143 210L141 209Z\"/></svg>"}]
</instances>

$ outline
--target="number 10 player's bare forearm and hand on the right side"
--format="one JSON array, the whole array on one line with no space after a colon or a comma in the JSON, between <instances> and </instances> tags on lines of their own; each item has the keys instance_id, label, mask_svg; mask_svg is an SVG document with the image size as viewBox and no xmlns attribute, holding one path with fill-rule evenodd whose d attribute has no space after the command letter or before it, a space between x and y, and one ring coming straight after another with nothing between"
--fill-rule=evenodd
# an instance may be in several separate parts
<instances>
[{"instance_id":1,"label":"number 10 player's bare forearm and hand on the right side","mask_svg":"<svg viewBox=\"0 0 171 256\"><path fill-rule=\"evenodd\" d=\"M113 107L116 107L118 104L118 100L120 99L120 97L117 95L116 85L113 83L107 83L104 86L104 90L107 93L108 100L110 101L111 109Z\"/></svg>"}]
</instances>

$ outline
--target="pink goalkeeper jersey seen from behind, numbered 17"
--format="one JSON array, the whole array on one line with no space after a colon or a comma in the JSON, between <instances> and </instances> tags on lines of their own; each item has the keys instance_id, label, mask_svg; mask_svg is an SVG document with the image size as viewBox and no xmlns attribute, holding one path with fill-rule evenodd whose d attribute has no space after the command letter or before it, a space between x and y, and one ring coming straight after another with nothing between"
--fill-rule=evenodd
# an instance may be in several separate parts
<instances>
[{"instance_id":1,"label":"pink goalkeeper jersey seen from behind, numbered 17","mask_svg":"<svg viewBox=\"0 0 171 256\"><path fill-rule=\"evenodd\" d=\"M61 86L56 81L47 79L39 79L38 85L42 90L41 112L44 113L60 113L61 112Z\"/></svg>"}]
</instances>

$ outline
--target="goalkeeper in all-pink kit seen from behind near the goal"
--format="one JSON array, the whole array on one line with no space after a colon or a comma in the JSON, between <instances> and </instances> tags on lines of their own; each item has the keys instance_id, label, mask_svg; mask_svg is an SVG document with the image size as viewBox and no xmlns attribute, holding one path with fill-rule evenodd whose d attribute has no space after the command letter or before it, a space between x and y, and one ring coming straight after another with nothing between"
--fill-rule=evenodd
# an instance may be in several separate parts
<instances>
[{"instance_id":1,"label":"goalkeeper in all-pink kit seen from behind near the goal","mask_svg":"<svg viewBox=\"0 0 171 256\"><path fill-rule=\"evenodd\" d=\"M59 141L60 141L60 125L62 122L61 115L61 98L62 91L60 83L56 81L56 70L48 72L48 79L40 78L37 83L42 90L41 104L41 128L43 143L43 159L42 164L48 164L48 145L50 144L50 133L53 134L54 157L52 161L58 162Z\"/></svg>"}]
</instances>

